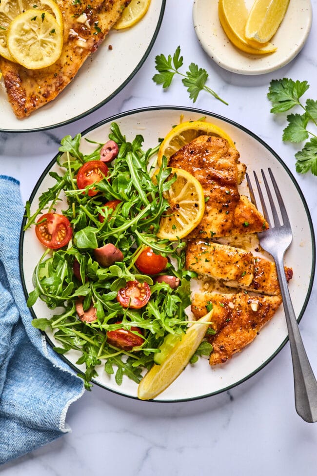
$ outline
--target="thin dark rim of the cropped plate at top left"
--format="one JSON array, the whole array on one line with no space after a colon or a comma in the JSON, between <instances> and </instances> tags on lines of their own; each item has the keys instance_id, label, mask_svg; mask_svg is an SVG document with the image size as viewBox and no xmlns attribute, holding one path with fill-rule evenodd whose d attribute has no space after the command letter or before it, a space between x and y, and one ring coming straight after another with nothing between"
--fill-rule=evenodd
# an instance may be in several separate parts
<instances>
[{"instance_id":1,"label":"thin dark rim of the cropped plate at top left","mask_svg":"<svg viewBox=\"0 0 317 476\"><path fill-rule=\"evenodd\" d=\"M117 94L119 94L119 92L122 91L122 89L128 84L130 83L130 81L134 78L134 76L138 73L138 71L141 69L141 67L143 66L144 62L146 61L147 57L149 56L153 46L154 46L154 43L158 37L158 33L159 33L159 30L160 30L160 27L162 25L162 21L163 21L163 17L164 17L164 12L165 12L165 7L166 7L166 0L160 0L162 2L161 4L161 7L160 7L160 11L159 11L159 15L158 15L158 23L156 25L156 28L155 28L155 31L154 31L154 34L151 38L151 41L149 42L148 44L148 47L146 48L146 51L144 53L144 55L142 56L142 58L140 59L139 63L137 64L137 66L135 67L135 69L131 72L131 74L125 79L125 81L123 83L121 83L119 85L119 87L112 93L110 94L107 98L105 98L104 100L102 100L100 103L94 105L93 107L91 107L90 109L88 109L87 111L75 116L74 118L71 118L71 119L67 119L63 122L60 122L60 123L57 123L57 124L53 124L53 125L45 125L45 126L41 126L41 127L34 127L33 129L3 129L1 126L0 126L0 132L14 132L16 134L20 134L20 133L32 133L32 132L40 132L40 131L44 131L44 130L51 130L51 129L56 129L57 127L62 127L66 124L72 124L73 122L76 122L76 121L79 121L79 119L83 119L84 117L87 117L89 116L90 114L92 114L93 112L97 111L101 106L103 106L104 104L108 103L109 101L111 101L115 96L117 96ZM67 86L66 86L67 87ZM27 118L26 118L27 119Z\"/></svg>"}]
</instances>

